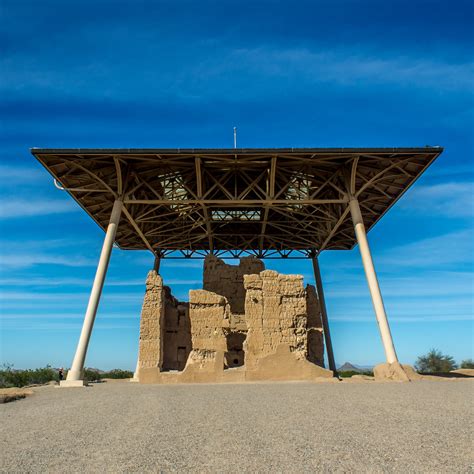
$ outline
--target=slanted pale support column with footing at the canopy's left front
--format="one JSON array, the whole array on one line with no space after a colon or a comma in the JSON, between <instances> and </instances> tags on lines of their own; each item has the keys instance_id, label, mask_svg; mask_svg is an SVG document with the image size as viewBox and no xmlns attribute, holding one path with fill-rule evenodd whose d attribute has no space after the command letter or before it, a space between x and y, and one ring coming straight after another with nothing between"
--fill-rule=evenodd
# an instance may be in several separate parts
<instances>
[{"instance_id":1,"label":"slanted pale support column with footing at the canopy's left front","mask_svg":"<svg viewBox=\"0 0 474 474\"><path fill-rule=\"evenodd\" d=\"M99 306L102 288L104 287L105 275L107 274L110 254L112 253L112 246L115 241L115 235L117 233L117 227L120 220L120 215L122 213L122 207L122 201L117 199L114 202L112 214L110 215L109 225L107 226L107 232L105 234L104 244L102 246L102 252L100 254L99 264L97 266L97 272L95 274L94 283L92 285L92 291L89 297L89 304L87 305L86 315L84 317L84 323L82 325L81 336L77 344L76 354L72 362L72 367L67 373L66 380L61 381L60 384L64 387L81 387L84 385L84 382L82 380L84 361L86 359L87 347L89 345L89 339L91 337L95 315L97 314L97 308Z\"/></svg>"}]
</instances>

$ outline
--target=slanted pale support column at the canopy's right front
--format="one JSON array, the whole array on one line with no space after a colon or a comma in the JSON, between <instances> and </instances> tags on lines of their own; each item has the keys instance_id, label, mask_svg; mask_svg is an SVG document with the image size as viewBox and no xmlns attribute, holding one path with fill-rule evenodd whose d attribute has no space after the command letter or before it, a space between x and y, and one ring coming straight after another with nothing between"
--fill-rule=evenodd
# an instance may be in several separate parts
<instances>
[{"instance_id":1,"label":"slanted pale support column at the canopy's right front","mask_svg":"<svg viewBox=\"0 0 474 474\"><path fill-rule=\"evenodd\" d=\"M377 275L375 273L374 263L370 253L369 242L367 241L367 233L365 231L364 221L360 212L359 202L354 196L351 196L350 198L349 207L357 242L359 244L360 254L362 256L365 276L369 285L370 295L372 296L372 304L374 305L380 335L382 336L385 357L389 364L393 364L394 362L398 362L398 358L393 345L392 334L390 333L390 326L388 325L387 314L385 312L379 282L377 281Z\"/></svg>"}]
</instances>

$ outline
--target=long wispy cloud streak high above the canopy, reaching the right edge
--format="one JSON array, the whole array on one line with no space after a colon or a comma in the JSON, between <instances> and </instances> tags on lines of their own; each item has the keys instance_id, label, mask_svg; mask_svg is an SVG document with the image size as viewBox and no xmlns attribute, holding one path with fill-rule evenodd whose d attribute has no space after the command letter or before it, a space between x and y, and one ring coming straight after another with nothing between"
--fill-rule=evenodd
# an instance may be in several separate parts
<instances>
[{"instance_id":1,"label":"long wispy cloud streak high above the canopy, reaching the right edge","mask_svg":"<svg viewBox=\"0 0 474 474\"><path fill-rule=\"evenodd\" d=\"M360 50L268 46L240 48L224 57L211 57L198 66L200 81L233 74L249 78L285 79L307 86L393 85L436 90L474 88L474 62L447 62L427 57L364 54Z\"/></svg>"}]
</instances>

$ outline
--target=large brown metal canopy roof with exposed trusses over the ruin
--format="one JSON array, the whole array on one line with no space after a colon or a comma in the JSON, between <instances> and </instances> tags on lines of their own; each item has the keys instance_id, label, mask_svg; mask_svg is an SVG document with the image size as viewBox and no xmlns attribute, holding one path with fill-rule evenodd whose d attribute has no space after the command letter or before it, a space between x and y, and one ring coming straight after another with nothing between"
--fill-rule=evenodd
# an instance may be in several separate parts
<instances>
[{"instance_id":1,"label":"large brown metal canopy roof with exposed trusses over the ruin","mask_svg":"<svg viewBox=\"0 0 474 474\"><path fill-rule=\"evenodd\" d=\"M369 230L442 151L31 150L102 229L114 200L123 199L116 236L122 249L260 258L352 248L348 196L358 198Z\"/></svg>"}]
</instances>

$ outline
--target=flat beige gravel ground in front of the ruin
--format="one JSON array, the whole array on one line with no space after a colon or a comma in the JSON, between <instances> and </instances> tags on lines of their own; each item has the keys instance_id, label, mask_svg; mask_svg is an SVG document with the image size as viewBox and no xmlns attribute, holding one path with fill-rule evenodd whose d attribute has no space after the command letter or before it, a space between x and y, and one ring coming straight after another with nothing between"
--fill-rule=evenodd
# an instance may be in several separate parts
<instances>
[{"instance_id":1,"label":"flat beige gravel ground in front of the ruin","mask_svg":"<svg viewBox=\"0 0 474 474\"><path fill-rule=\"evenodd\" d=\"M473 472L474 380L97 384L0 405L1 472Z\"/></svg>"}]
</instances>

